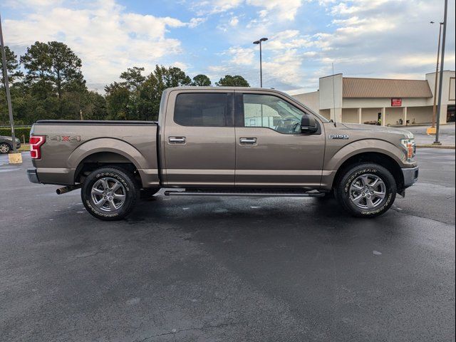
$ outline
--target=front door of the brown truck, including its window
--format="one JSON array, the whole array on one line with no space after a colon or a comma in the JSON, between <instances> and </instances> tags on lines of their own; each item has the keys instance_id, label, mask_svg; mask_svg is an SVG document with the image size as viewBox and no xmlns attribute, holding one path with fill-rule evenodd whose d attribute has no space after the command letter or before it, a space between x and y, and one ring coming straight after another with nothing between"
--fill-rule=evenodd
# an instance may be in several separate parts
<instances>
[{"instance_id":1,"label":"front door of the brown truck, including its window","mask_svg":"<svg viewBox=\"0 0 456 342\"><path fill-rule=\"evenodd\" d=\"M236 93L236 187L320 186L324 128L301 133L304 108L279 93Z\"/></svg>"}]
</instances>

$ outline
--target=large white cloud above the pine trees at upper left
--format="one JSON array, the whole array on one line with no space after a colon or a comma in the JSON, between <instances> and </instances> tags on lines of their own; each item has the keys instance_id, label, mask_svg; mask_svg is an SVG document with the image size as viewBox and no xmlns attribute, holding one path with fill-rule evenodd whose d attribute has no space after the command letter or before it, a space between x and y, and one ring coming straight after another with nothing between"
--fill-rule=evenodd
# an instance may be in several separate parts
<instances>
[{"instance_id":1,"label":"large white cloud above the pine trees at upper left","mask_svg":"<svg viewBox=\"0 0 456 342\"><path fill-rule=\"evenodd\" d=\"M170 29L192 28L204 20L185 23L170 17L129 13L113 0L95 1L82 9L49 8L41 6L43 2L51 0L35 0L31 14L4 21L7 43L24 50L35 41L65 42L82 59L83 74L91 88L116 80L131 66L152 71L162 58L182 52L180 41L167 37Z\"/></svg>"}]
</instances>

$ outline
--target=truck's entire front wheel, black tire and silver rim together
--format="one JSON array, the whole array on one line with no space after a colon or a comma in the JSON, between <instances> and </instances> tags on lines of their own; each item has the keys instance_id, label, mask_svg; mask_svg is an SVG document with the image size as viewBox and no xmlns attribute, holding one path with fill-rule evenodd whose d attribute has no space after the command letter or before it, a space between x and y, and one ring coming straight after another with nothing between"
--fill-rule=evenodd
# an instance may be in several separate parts
<instances>
[{"instance_id":1,"label":"truck's entire front wheel, black tire and silver rim together","mask_svg":"<svg viewBox=\"0 0 456 342\"><path fill-rule=\"evenodd\" d=\"M360 187L362 189L358 190ZM385 167L363 163L343 171L335 190L338 202L353 216L378 217L393 205L397 187L393 175Z\"/></svg>"}]
</instances>

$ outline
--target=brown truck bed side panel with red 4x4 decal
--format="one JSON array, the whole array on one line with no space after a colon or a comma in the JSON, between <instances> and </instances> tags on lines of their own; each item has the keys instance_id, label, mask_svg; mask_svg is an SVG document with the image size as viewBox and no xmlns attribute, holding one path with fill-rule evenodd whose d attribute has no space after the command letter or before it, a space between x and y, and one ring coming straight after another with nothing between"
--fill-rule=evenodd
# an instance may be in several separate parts
<instances>
[{"instance_id":1,"label":"brown truck bed side panel with red 4x4 decal","mask_svg":"<svg viewBox=\"0 0 456 342\"><path fill-rule=\"evenodd\" d=\"M33 160L40 182L74 185L83 165L132 165L142 187L159 185L155 121L38 120L31 135L44 135L41 158Z\"/></svg>"}]
</instances>

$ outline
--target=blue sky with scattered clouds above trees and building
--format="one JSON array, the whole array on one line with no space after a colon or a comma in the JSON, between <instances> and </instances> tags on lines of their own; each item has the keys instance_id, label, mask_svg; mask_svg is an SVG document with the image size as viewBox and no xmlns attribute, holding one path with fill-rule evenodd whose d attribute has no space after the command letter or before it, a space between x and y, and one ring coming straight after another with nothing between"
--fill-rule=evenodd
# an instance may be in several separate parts
<instances>
[{"instance_id":1,"label":"blue sky with scattered clouds above trees and building","mask_svg":"<svg viewBox=\"0 0 456 342\"><path fill-rule=\"evenodd\" d=\"M63 41L103 91L131 66L178 66L212 82L239 74L291 93L318 78L423 79L435 68L443 0L1 0L4 38L18 55L35 41ZM455 1L449 1L445 69L455 69Z\"/></svg>"}]
</instances>

